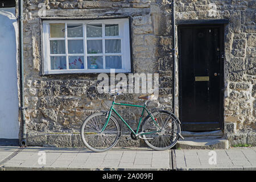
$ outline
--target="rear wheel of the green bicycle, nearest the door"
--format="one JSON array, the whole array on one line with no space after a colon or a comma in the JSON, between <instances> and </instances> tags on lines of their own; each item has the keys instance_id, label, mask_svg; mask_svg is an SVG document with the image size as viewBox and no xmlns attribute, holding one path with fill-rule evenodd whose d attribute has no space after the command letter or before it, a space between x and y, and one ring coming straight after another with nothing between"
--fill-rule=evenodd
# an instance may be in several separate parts
<instances>
[{"instance_id":1,"label":"rear wheel of the green bicycle, nearest the door","mask_svg":"<svg viewBox=\"0 0 256 182\"><path fill-rule=\"evenodd\" d=\"M179 139L180 125L174 114L168 111L156 111L152 113L155 122L148 115L141 126L141 131L149 133L142 135L146 144L154 150L168 150L175 146Z\"/></svg>"}]
</instances>

